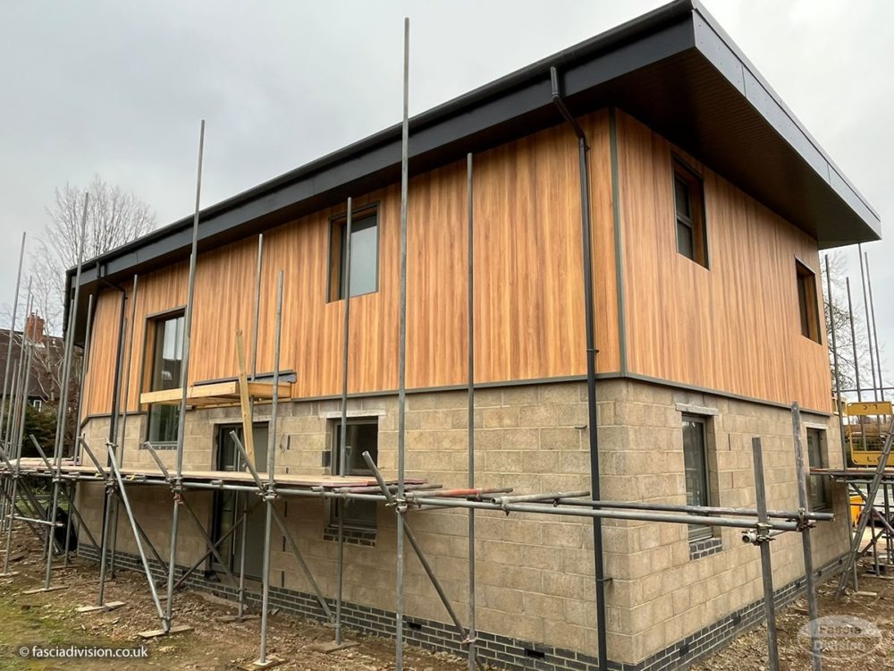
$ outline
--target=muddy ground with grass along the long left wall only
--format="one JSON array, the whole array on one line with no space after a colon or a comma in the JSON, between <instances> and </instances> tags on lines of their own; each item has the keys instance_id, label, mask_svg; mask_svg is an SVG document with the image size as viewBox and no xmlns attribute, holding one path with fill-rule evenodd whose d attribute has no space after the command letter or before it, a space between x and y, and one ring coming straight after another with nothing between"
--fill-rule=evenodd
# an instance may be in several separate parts
<instances>
[{"instance_id":1,"label":"muddy ground with grass along the long left wall only","mask_svg":"<svg viewBox=\"0 0 894 671\"><path fill-rule=\"evenodd\" d=\"M21 592L43 587L46 564L40 559L37 539L24 529L13 537L12 556L21 554L24 557L10 565L10 571L19 574L0 578L0 669L4 671L70 668L229 670L257 659L259 620L233 624L217 622L217 617L236 612L235 607L226 605L223 599L209 601L207 596L197 592L175 593L174 624L189 624L194 627L193 631L143 641L138 633L157 629L160 623L142 573L122 571L117 573L114 582L107 583L105 600L124 601L126 606L110 612L80 615L74 612L75 607L96 603L97 565L74 559L69 568L57 568L53 572L53 584L66 585L66 590L26 595ZM357 641L357 647L325 654L312 650L311 646L333 641L332 627L282 613L270 616L269 620L267 651L287 660L277 669L384 671L394 667L392 641L348 632L346 638ZM32 644L121 648L144 643L148 647L148 658L145 659L43 660L22 658L18 652L21 647ZM466 668L465 660L460 658L415 648L407 648L404 659L405 666L413 671Z\"/></svg>"}]
</instances>

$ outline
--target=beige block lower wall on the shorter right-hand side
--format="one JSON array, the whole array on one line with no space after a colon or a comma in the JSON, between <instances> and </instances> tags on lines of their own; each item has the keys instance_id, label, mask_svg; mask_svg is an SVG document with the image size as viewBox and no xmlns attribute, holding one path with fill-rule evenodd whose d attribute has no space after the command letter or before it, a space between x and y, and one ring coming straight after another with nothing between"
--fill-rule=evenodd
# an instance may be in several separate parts
<instances>
[{"instance_id":1,"label":"beige block lower wall on the shorter right-hand side","mask_svg":"<svg viewBox=\"0 0 894 671\"><path fill-rule=\"evenodd\" d=\"M615 399L615 423L600 427L603 498L686 504L680 424L687 412L707 420L713 505L756 506L752 437L762 437L768 506L797 510L789 409L638 381L601 388ZM802 413L802 424L826 430L828 463L840 466L836 420ZM806 456L805 427L802 440ZM833 486L830 496L837 520L813 531L817 567L848 549L846 492ZM628 591L623 628L631 659L648 658L763 596L759 550L744 544L740 531L715 529L719 547L697 559L682 525L633 522L626 531L626 554L606 553L606 565L609 592ZM804 574L797 534L772 541L772 562L777 586Z\"/></svg>"}]
</instances>

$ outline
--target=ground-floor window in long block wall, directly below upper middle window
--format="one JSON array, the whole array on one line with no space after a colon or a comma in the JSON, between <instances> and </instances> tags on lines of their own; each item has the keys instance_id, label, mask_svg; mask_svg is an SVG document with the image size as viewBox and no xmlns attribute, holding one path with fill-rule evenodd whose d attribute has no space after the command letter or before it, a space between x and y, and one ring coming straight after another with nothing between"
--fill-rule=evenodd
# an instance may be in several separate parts
<instances>
[{"instance_id":1,"label":"ground-floor window in long block wall, directly below upper middle window","mask_svg":"<svg viewBox=\"0 0 894 671\"><path fill-rule=\"evenodd\" d=\"M365 475L372 477L363 453L368 452L374 463L378 463L379 422L375 417L348 420L345 432L345 475ZM333 474L341 475L340 454L342 445L342 421L333 420L332 432ZM375 501L347 501L344 506L345 526L360 530L375 530ZM338 523L338 505L332 506L333 525Z\"/></svg>"}]
</instances>

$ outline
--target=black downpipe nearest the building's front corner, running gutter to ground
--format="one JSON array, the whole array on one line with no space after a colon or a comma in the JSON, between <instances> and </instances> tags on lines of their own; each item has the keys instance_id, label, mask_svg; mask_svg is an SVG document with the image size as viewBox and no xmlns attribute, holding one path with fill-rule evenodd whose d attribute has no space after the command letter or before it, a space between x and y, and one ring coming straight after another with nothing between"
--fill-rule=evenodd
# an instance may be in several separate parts
<instances>
[{"instance_id":1,"label":"black downpipe nearest the building's front corner, running gutter to ground","mask_svg":"<svg viewBox=\"0 0 894 671\"><path fill-rule=\"evenodd\" d=\"M584 258L584 315L586 325L586 412L587 435L590 452L590 490L592 497L598 501L599 493L599 432L596 417L596 345L595 317L593 306L593 259L590 235L590 171L586 160L589 147L586 134L578 120L571 115L565 100L561 97L559 73L555 67L550 68L552 81L552 102L559 112L570 123L578 136L578 160L580 167L580 230L581 246ZM603 523L599 518L593 519L593 560L596 579L596 638L599 647L599 669L608 671L608 655L606 654L605 633L605 567L603 565Z\"/></svg>"}]
</instances>

